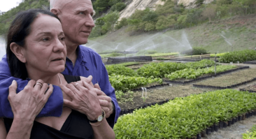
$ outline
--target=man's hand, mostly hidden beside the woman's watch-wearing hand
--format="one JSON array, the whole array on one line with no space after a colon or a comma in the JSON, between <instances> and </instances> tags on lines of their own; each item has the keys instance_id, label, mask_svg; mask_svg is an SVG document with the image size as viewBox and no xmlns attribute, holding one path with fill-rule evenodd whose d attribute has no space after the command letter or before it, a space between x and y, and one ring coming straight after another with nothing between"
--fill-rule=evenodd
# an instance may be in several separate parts
<instances>
[{"instance_id":1,"label":"man's hand, mostly hidden beside the woman's watch-wearing hand","mask_svg":"<svg viewBox=\"0 0 256 139\"><path fill-rule=\"evenodd\" d=\"M94 87L100 90L98 83L96 83ZM106 118L109 118L109 116L113 113L113 104L111 102L111 97L107 96L103 91L97 91L97 95L101 109L105 111Z\"/></svg>"}]
</instances>

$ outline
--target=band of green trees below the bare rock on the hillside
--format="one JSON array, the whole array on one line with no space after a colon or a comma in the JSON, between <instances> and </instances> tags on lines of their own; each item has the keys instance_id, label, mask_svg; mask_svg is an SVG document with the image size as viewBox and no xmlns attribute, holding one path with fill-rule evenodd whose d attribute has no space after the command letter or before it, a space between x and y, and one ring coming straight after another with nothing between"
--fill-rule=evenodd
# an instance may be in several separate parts
<instances>
[{"instance_id":1,"label":"band of green trees below the bare rock on the hillside","mask_svg":"<svg viewBox=\"0 0 256 139\"><path fill-rule=\"evenodd\" d=\"M219 0L208 5L202 4L203 1L197 0L197 8L185 9L182 4L178 5L177 1L166 0L165 4L158 5L155 11L149 8L136 10L127 19L122 18L121 21L112 20L112 26L115 25L115 28L111 27L108 30L105 29L105 26L100 26L103 24L101 22L102 20L109 18L104 16L96 20L96 27L93 29L90 37L97 37L106 34L108 31L117 30L125 26L128 26L127 31L153 31L168 28L181 29L192 27L208 20L211 22L212 20L223 17L256 13L255 0ZM118 17L116 15L117 19Z\"/></svg>"}]
</instances>

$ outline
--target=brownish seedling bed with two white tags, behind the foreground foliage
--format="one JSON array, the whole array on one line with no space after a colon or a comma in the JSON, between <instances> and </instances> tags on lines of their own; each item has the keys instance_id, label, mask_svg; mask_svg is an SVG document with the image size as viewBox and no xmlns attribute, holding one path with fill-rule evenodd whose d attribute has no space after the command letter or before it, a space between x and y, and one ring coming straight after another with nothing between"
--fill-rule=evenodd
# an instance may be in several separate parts
<instances>
[{"instance_id":1,"label":"brownish seedling bed with two white tags, behind the foreground foliage","mask_svg":"<svg viewBox=\"0 0 256 139\"><path fill-rule=\"evenodd\" d=\"M122 111L132 111L133 109L144 108L149 105L155 105L156 103L164 103L166 100L172 100L176 97L185 97L191 94L199 94L206 91L213 91L215 89L200 89L194 88L192 86L168 86L168 87L159 87L157 89L149 89L147 90L147 98L145 98L145 91L144 91L144 98L142 98L142 90L141 91L134 91L133 94L125 93L123 98L125 100L130 101L122 101L118 100L118 105L120 106ZM122 100L123 100L122 98ZM131 112L129 112L131 113ZM123 114L123 113L121 113Z\"/></svg>"}]
</instances>

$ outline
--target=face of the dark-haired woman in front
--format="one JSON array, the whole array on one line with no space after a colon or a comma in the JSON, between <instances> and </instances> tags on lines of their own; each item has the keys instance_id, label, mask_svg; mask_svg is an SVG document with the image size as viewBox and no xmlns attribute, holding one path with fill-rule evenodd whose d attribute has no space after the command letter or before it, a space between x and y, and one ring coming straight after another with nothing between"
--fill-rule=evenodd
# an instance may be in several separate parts
<instances>
[{"instance_id":1,"label":"face of the dark-haired woman in front","mask_svg":"<svg viewBox=\"0 0 256 139\"><path fill-rule=\"evenodd\" d=\"M67 51L60 21L52 16L38 15L30 26L22 52L28 73L64 71Z\"/></svg>"}]
</instances>

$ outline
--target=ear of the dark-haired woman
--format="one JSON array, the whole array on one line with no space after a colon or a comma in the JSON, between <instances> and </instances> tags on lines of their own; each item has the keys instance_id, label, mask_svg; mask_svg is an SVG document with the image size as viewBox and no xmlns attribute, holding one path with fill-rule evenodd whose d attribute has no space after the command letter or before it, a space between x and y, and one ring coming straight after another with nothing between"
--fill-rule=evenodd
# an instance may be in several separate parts
<instances>
[{"instance_id":1,"label":"ear of the dark-haired woman","mask_svg":"<svg viewBox=\"0 0 256 139\"><path fill-rule=\"evenodd\" d=\"M27 62L27 60L26 60L26 58L24 56L24 51L22 51L22 49L24 49L24 48L19 46L17 43L12 42L10 44L10 49L15 54L17 59L19 59L22 63L26 63Z\"/></svg>"}]
</instances>

